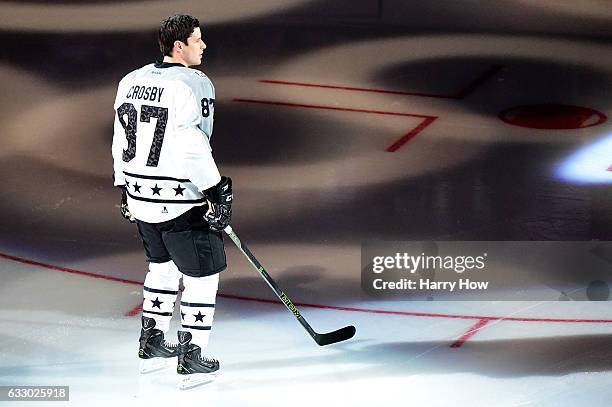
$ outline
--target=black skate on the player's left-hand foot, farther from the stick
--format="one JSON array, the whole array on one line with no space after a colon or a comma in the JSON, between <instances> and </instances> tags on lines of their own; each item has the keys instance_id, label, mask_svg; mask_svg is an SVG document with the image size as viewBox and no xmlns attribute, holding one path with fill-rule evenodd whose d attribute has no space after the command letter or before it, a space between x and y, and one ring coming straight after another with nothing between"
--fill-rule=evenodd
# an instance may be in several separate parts
<instances>
[{"instance_id":1,"label":"black skate on the player's left-hand foot, farther from the stick","mask_svg":"<svg viewBox=\"0 0 612 407\"><path fill-rule=\"evenodd\" d=\"M140 330L140 373L151 373L171 364L171 358L178 355L178 345L166 342L164 333L155 329L155 320L142 317Z\"/></svg>"}]
</instances>

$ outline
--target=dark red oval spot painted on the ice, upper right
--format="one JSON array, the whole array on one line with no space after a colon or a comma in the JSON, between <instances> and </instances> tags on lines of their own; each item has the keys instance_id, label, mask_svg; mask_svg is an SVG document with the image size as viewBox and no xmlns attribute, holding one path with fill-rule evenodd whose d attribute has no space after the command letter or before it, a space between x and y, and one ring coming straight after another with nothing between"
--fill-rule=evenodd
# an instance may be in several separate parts
<instances>
[{"instance_id":1,"label":"dark red oval spot painted on the ice, upper right","mask_svg":"<svg viewBox=\"0 0 612 407\"><path fill-rule=\"evenodd\" d=\"M597 126L608 118L588 107L570 105L515 106L499 113L499 118L514 126L530 129L582 129Z\"/></svg>"}]
</instances>

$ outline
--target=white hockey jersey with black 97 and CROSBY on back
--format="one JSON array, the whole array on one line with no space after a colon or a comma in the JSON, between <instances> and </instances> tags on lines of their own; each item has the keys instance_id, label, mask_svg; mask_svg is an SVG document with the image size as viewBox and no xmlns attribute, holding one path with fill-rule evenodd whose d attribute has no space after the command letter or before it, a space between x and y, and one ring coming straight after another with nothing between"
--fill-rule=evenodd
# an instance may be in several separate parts
<instances>
[{"instance_id":1,"label":"white hockey jersey with black 97 and CROSBY on back","mask_svg":"<svg viewBox=\"0 0 612 407\"><path fill-rule=\"evenodd\" d=\"M127 188L136 219L158 223L206 202L221 176L212 157L215 89L206 75L175 63L127 74L115 99L115 185Z\"/></svg>"}]
</instances>

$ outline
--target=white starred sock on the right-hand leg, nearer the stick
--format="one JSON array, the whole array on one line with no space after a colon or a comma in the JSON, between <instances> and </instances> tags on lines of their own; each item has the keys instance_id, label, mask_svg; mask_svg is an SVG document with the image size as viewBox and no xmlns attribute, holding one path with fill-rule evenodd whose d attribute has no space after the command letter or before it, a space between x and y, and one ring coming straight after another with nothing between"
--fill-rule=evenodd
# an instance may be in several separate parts
<instances>
[{"instance_id":1,"label":"white starred sock on the right-hand leg, nearer the stick","mask_svg":"<svg viewBox=\"0 0 612 407\"><path fill-rule=\"evenodd\" d=\"M208 337L215 315L215 302L219 286L219 274L206 277L183 275L185 290L181 297L182 330L191 333L192 343L202 349L208 345Z\"/></svg>"}]
</instances>

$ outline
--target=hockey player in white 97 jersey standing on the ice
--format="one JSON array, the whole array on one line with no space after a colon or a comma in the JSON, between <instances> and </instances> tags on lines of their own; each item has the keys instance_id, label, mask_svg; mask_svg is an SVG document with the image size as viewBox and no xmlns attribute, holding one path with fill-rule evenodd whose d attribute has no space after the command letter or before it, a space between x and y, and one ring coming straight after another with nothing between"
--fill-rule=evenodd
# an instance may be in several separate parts
<instances>
[{"instance_id":1,"label":"hockey player in white 97 jersey standing on the ice","mask_svg":"<svg viewBox=\"0 0 612 407\"><path fill-rule=\"evenodd\" d=\"M115 99L113 161L121 213L135 221L149 271L144 283L141 372L178 356L181 387L207 381L219 362L206 357L219 273L221 231L230 223L232 182L212 157L215 89L200 65L199 22L174 15L161 23L163 61L127 74ZM166 340L183 279L178 344Z\"/></svg>"}]
</instances>

